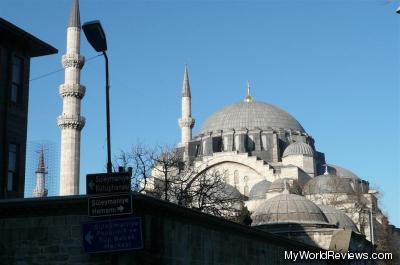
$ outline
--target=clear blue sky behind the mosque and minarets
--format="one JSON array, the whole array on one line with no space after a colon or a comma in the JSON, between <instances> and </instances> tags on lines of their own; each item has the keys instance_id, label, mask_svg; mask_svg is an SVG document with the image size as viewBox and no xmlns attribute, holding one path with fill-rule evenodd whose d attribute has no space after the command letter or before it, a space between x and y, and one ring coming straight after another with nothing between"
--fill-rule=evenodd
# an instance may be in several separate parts
<instances>
[{"instance_id":1,"label":"clear blue sky behind the mosque and minarets","mask_svg":"<svg viewBox=\"0 0 400 265\"><path fill-rule=\"evenodd\" d=\"M112 147L138 140L175 144L184 64L196 128L245 95L287 110L327 161L383 192L400 226L399 1L95 1L81 20L100 19L111 67ZM31 77L57 70L65 52L68 0L2 0L0 16L49 42L58 55L32 60ZM82 54L96 53L82 36ZM104 64L87 62L82 84L81 192L106 161ZM59 143L63 72L31 82L28 141Z\"/></svg>"}]
</instances>

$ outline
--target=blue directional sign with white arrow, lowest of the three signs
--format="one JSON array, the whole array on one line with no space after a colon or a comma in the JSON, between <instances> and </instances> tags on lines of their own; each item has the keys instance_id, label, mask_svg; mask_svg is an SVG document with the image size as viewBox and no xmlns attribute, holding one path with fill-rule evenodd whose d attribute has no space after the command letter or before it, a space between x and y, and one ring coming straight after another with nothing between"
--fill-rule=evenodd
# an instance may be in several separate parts
<instances>
[{"instance_id":1,"label":"blue directional sign with white arrow, lowest of the three signs","mask_svg":"<svg viewBox=\"0 0 400 265\"><path fill-rule=\"evenodd\" d=\"M140 217L83 224L83 247L87 253L143 248Z\"/></svg>"}]
</instances>

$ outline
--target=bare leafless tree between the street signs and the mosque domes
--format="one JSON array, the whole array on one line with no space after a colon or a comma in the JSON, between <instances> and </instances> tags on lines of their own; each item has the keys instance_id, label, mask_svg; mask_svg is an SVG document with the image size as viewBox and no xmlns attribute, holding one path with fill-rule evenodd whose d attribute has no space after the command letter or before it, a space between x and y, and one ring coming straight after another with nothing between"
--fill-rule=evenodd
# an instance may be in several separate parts
<instances>
[{"instance_id":1,"label":"bare leafless tree between the street signs and the mosque domes","mask_svg":"<svg viewBox=\"0 0 400 265\"><path fill-rule=\"evenodd\" d=\"M243 196L224 181L226 172L200 172L184 161L179 149L163 146L149 150L142 145L121 152L118 163L133 167L141 183L139 192L215 216L233 218L241 209ZM151 176L152 185L147 185Z\"/></svg>"}]
</instances>

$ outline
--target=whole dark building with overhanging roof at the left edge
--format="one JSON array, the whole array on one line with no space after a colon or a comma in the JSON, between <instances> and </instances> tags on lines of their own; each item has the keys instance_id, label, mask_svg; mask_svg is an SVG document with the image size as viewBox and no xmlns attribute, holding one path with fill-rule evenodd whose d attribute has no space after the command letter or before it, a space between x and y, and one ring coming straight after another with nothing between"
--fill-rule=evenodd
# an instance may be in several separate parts
<instances>
[{"instance_id":1,"label":"whole dark building with overhanging roof at the left edge","mask_svg":"<svg viewBox=\"0 0 400 265\"><path fill-rule=\"evenodd\" d=\"M1 199L24 194L30 59L57 50L3 18L0 36Z\"/></svg>"}]
</instances>

